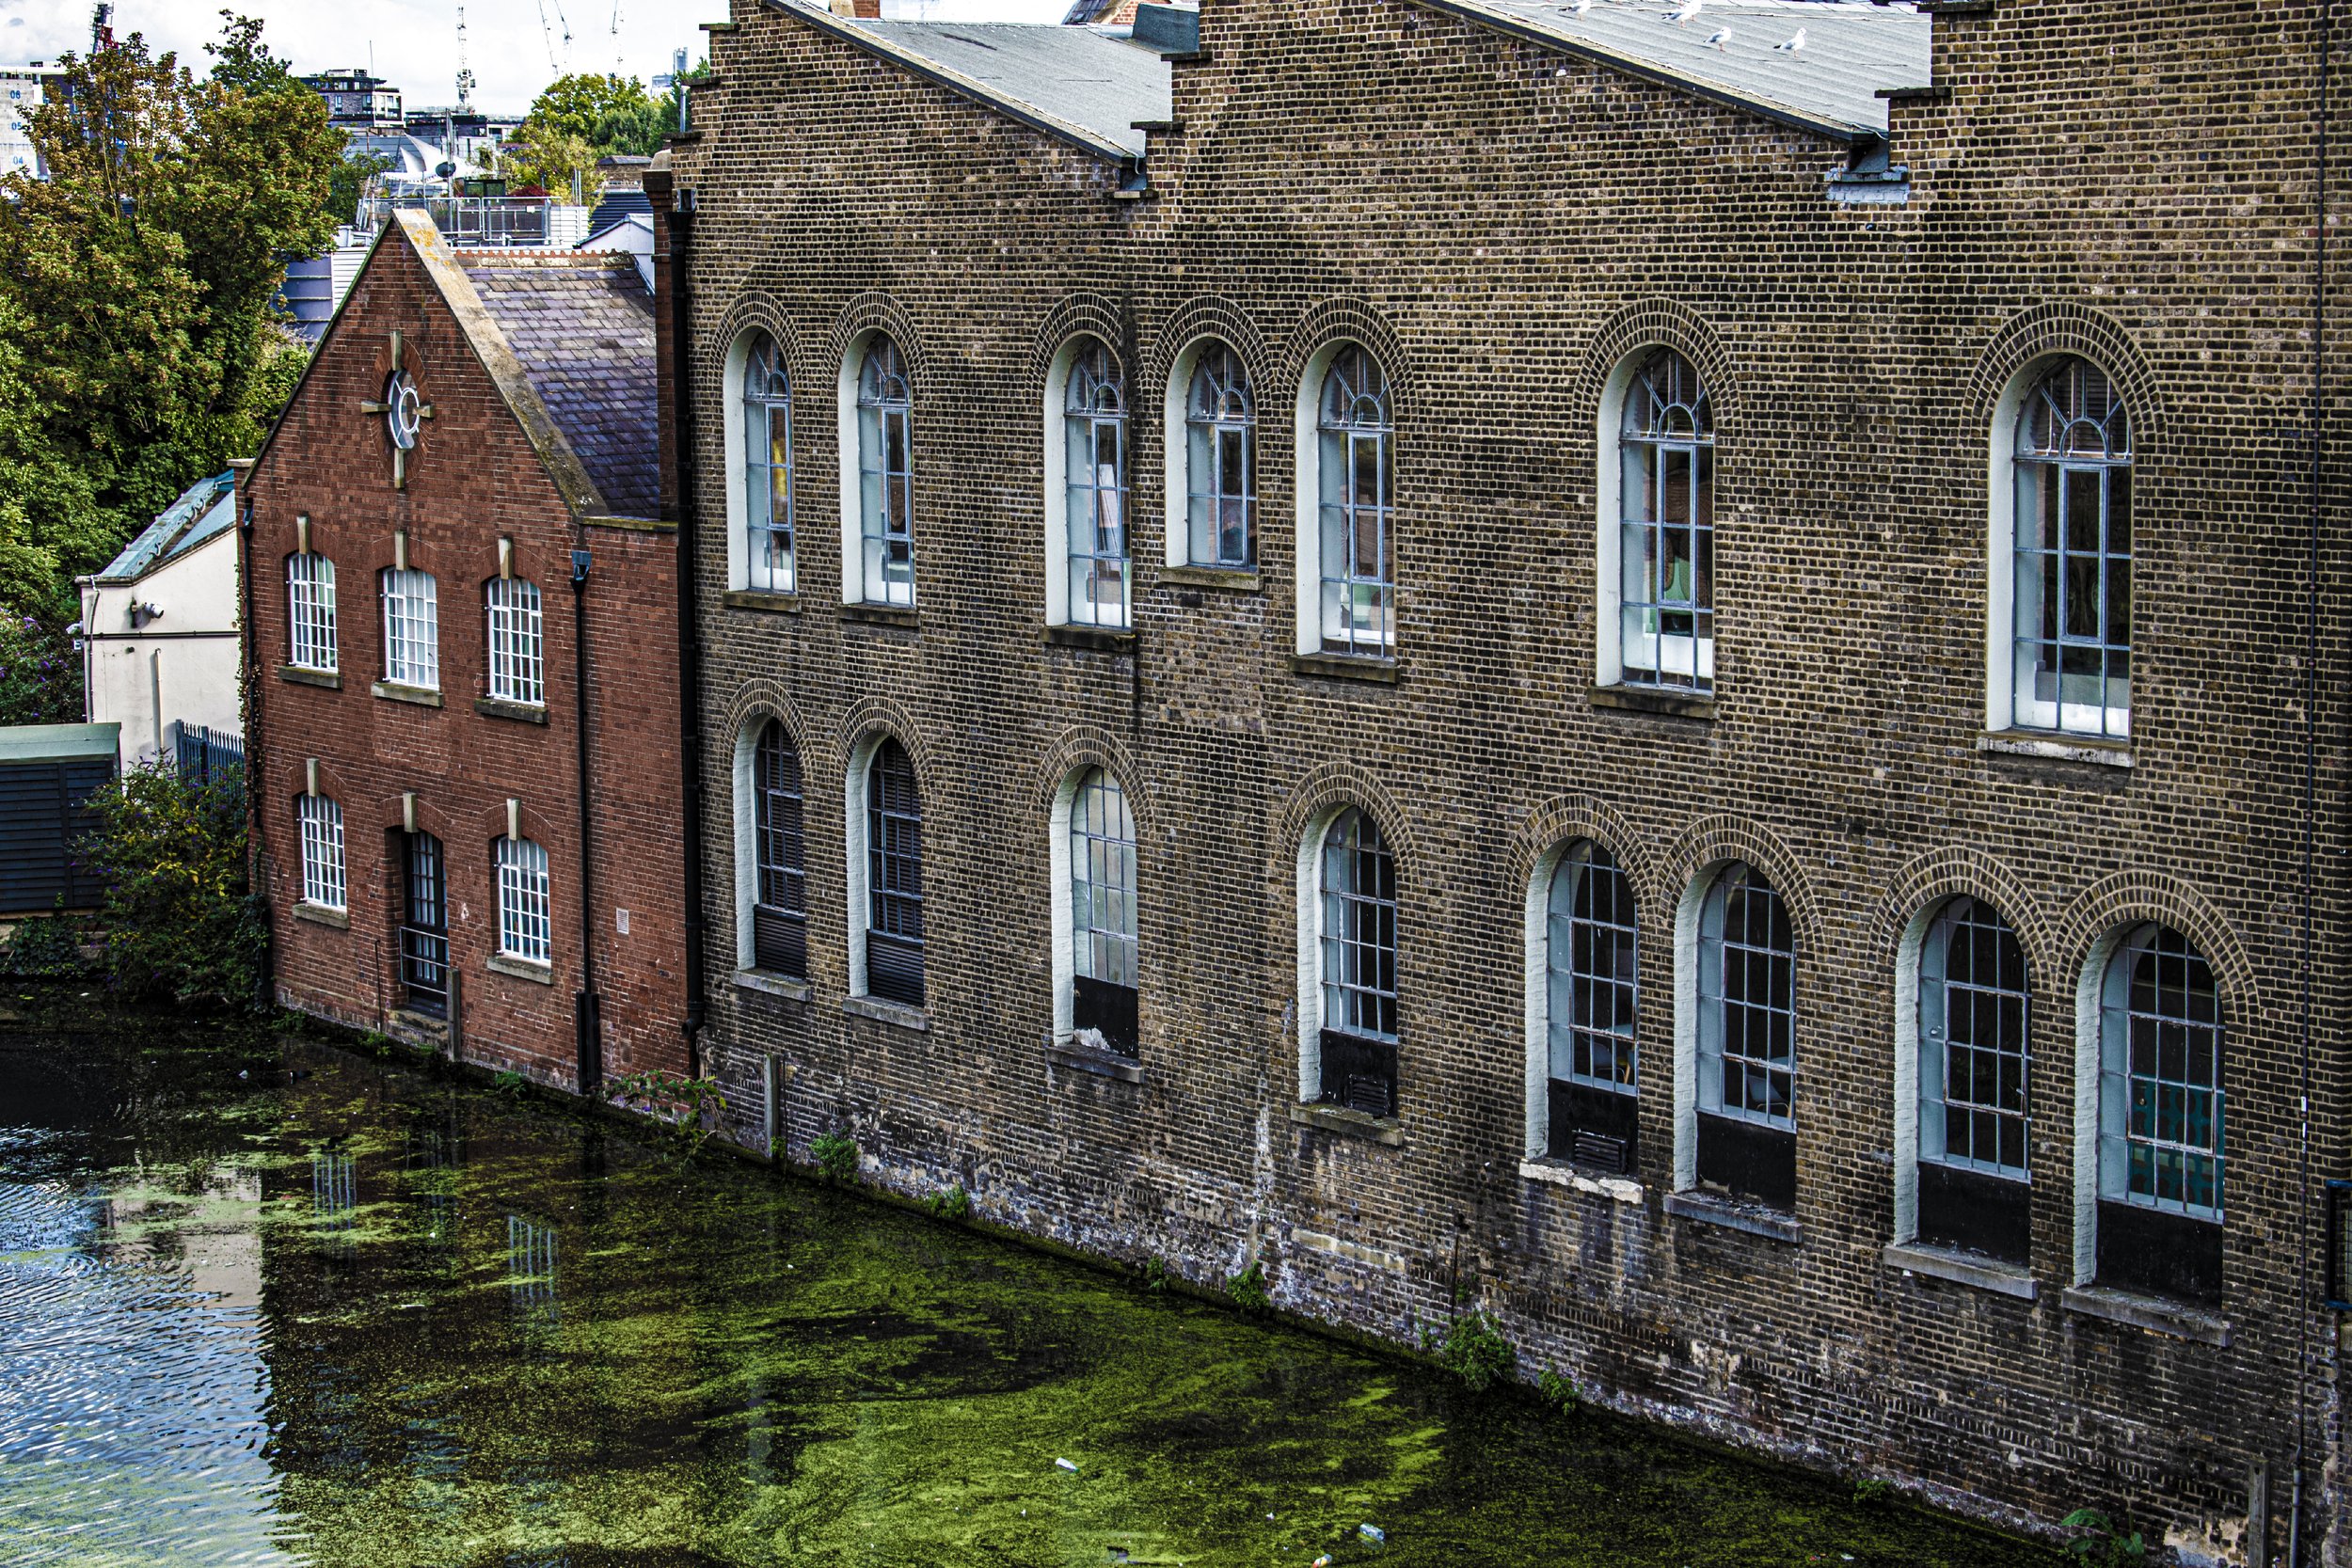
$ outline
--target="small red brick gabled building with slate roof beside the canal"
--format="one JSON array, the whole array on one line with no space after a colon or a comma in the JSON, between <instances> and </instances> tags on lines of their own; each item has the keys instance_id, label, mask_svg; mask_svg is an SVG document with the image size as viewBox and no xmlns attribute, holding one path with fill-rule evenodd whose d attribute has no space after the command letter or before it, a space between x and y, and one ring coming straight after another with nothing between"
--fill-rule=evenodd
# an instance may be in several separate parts
<instances>
[{"instance_id":1,"label":"small red brick gabled building with slate roof beside the canal","mask_svg":"<svg viewBox=\"0 0 2352 1568\"><path fill-rule=\"evenodd\" d=\"M654 440L630 256L397 214L242 484L287 1006L574 1088L689 1065Z\"/></svg>"}]
</instances>

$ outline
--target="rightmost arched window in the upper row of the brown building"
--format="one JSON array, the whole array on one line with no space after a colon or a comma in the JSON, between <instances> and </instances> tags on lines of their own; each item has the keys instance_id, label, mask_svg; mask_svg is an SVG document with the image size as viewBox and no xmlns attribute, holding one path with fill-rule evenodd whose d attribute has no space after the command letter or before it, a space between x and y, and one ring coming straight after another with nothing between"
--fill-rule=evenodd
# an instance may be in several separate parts
<instances>
[{"instance_id":1,"label":"rightmost arched window in the upper row of the brown building","mask_svg":"<svg viewBox=\"0 0 2352 1568\"><path fill-rule=\"evenodd\" d=\"M2065 357L2016 411L2009 722L2131 733L2131 418ZM1999 562L1997 562L1999 567Z\"/></svg>"}]
</instances>

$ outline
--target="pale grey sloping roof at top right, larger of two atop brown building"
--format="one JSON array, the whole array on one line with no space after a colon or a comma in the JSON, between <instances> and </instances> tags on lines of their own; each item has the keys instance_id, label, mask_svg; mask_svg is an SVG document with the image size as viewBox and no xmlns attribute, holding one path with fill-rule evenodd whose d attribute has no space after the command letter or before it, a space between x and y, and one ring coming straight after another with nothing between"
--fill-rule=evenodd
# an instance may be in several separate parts
<instances>
[{"instance_id":1,"label":"pale grey sloping roof at top right, larger of two atop brown building","mask_svg":"<svg viewBox=\"0 0 2352 1568\"><path fill-rule=\"evenodd\" d=\"M1851 139L1886 134L1889 87L1929 85L1926 14L1870 0L1705 0L1675 24L1670 0L1599 0L1583 16L1550 0L1425 0L1437 9L1562 45L1630 75ZM1729 28L1722 47L1708 45ZM1802 49L1773 49L1804 28Z\"/></svg>"}]
</instances>

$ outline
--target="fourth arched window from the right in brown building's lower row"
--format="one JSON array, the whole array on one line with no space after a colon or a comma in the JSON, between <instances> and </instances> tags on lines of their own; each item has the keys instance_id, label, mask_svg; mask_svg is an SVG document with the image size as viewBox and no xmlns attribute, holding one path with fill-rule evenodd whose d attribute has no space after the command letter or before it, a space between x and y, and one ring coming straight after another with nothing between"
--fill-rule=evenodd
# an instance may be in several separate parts
<instances>
[{"instance_id":1,"label":"fourth arched window from the right in brown building's lower row","mask_svg":"<svg viewBox=\"0 0 2352 1568\"><path fill-rule=\"evenodd\" d=\"M1609 1171L1635 1166L1639 936L1632 884L1606 849L1571 844L1545 896L1548 1147Z\"/></svg>"}]
</instances>

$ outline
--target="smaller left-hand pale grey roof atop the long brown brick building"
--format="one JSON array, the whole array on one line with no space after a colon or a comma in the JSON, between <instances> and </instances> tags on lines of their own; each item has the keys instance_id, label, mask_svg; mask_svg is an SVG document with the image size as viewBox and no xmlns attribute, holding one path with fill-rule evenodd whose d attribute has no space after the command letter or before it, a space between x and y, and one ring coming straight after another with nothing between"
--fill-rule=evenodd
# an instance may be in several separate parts
<instances>
[{"instance_id":1,"label":"smaller left-hand pale grey roof atop the long brown brick building","mask_svg":"<svg viewBox=\"0 0 2352 1568\"><path fill-rule=\"evenodd\" d=\"M851 21L807 0L771 2L1103 158L1143 158L1136 120L1169 118L1169 63L1117 33L1037 21Z\"/></svg>"}]
</instances>

